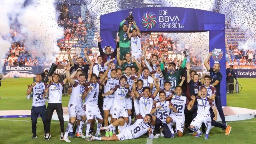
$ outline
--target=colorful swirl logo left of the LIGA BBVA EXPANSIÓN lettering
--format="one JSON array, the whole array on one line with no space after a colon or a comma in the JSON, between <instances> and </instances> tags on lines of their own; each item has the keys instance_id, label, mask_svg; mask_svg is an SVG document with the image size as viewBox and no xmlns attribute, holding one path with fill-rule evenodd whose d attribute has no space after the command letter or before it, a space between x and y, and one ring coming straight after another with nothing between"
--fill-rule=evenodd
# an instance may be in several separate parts
<instances>
[{"instance_id":1,"label":"colorful swirl logo left of the LIGA BBVA EXPANSI\u00d3N lettering","mask_svg":"<svg viewBox=\"0 0 256 144\"><path fill-rule=\"evenodd\" d=\"M145 13L143 17L141 18L142 25L146 29L152 29L156 26L156 16L153 13Z\"/></svg>"}]
</instances>

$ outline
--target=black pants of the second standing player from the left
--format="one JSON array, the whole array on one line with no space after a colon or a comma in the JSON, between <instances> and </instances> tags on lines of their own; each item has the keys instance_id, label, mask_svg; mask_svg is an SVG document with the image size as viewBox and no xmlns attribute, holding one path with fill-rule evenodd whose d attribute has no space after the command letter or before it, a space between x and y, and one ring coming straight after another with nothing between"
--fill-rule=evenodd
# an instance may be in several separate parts
<instances>
[{"instance_id":1,"label":"black pants of the second standing player from the left","mask_svg":"<svg viewBox=\"0 0 256 144\"><path fill-rule=\"evenodd\" d=\"M45 133L50 133L51 119L53 111L56 110L58 118L60 121L60 131L64 132L64 118L63 118L63 109L61 103L48 103L46 110L46 129Z\"/></svg>"}]
</instances>

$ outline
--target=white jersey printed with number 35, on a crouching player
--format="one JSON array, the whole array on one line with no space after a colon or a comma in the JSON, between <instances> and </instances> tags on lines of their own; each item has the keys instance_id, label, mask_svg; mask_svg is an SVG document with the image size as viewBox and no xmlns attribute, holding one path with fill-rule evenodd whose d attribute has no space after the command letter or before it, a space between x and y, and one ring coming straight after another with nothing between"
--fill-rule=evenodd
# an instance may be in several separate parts
<instances>
[{"instance_id":1,"label":"white jersey printed with number 35, on a crouching player","mask_svg":"<svg viewBox=\"0 0 256 144\"><path fill-rule=\"evenodd\" d=\"M157 112L157 118L159 118L163 123L166 123L166 118L167 116L170 115L170 108L169 108L169 104L172 105L171 101L164 101L164 102L156 102L153 106L153 109L155 109L156 107L158 107L159 105L161 106L161 108L158 108L156 110Z\"/></svg>"}]
</instances>

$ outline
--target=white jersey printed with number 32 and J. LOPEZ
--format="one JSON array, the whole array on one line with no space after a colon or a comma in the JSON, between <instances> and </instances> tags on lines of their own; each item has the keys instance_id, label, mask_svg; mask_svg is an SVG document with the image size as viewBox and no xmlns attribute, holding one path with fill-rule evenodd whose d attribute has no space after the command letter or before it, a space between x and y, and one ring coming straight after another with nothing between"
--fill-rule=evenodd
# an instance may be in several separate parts
<instances>
[{"instance_id":1,"label":"white jersey printed with number 32 and J. LOPEZ","mask_svg":"<svg viewBox=\"0 0 256 144\"><path fill-rule=\"evenodd\" d=\"M171 100L173 106L177 109L177 113L171 110L171 115L178 119L185 120L184 109L188 105L188 99L186 96L174 95Z\"/></svg>"}]
</instances>

